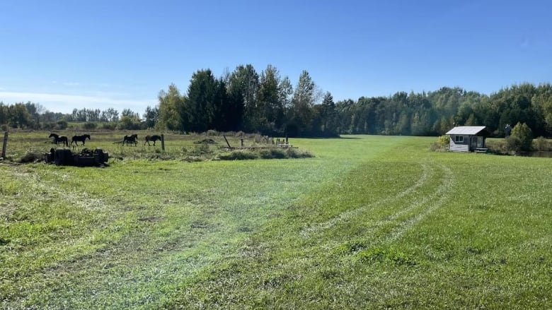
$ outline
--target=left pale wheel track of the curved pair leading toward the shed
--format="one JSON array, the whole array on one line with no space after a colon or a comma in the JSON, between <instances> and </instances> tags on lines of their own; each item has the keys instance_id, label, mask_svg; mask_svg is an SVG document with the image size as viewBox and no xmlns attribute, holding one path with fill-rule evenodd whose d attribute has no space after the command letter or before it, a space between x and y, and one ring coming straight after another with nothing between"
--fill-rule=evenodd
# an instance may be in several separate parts
<instances>
[{"instance_id":1,"label":"left pale wheel track of the curved pair leading toward the shed","mask_svg":"<svg viewBox=\"0 0 552 310\"><path fill-rule=\"evenodd\" d=\"M366 212L369 209L379 207L380 205L386 205L388 203L392 203L393 201L398 201L404 196L407 196L410 193L414 193L417 189L419 189L427 182L427 177L432 172L432 168L430 168L427 165L427 163L422 162L420 163L420 165L422 166L422 175L420 176L420 179L418 179L415 182L415 184L413 184L412 186L404 189L403 191L396 194L395 196L388 196L374 203L369 203L368 205L362 205L359 208L347 210L343 213L335 215L335 217L331 218L330 220L327 220L326 222L321 222L316 225L306 227L301 231L301 236L308 238L311 234L316 234L317 232L330 229L335 225L351 220L352 218L359 216L360 214ZM408 210L400 210L398 213L391 215L390 219L391 220L396 219L397 217L401 216L403 213L406 213L407 211Z\"/></svg>"}]
</instances>

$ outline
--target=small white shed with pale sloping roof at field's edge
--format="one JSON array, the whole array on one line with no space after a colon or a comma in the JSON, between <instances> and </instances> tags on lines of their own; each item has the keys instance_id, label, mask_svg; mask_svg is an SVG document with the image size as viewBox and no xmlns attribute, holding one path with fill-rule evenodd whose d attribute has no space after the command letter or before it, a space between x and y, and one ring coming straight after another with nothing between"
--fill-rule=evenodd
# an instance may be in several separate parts
<instances>
[{"instance_id":1,"label":"small white shed with pale sloping roof at field's edge","mask_svg":"<svg viewBox=\"0 0 552 310\"><path fill-rule=\"evenodd\" d=\"M450 150L453 152L486 152L485 126L457 126L447 132L450 136Z\"/></svg>"}]
</instances>

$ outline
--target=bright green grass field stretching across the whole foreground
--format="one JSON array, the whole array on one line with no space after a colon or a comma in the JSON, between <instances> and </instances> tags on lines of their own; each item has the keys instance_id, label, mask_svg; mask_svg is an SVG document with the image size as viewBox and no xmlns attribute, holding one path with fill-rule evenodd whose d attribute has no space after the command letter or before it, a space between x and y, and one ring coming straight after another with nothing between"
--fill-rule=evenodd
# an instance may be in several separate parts
<instances>
[{"instance_id":1,"label":"bright green grass field stretching across the whole foreground","mask_svg":"<svg viewBox=\"0 0 552 310\"><path fill-rule=\"evenodd\" d=\"M194 162L201 137L117 137L86 142L109 167L0 163L1 309L552 308L550 159L346 136Z\"/></svg>"}]
</instances>

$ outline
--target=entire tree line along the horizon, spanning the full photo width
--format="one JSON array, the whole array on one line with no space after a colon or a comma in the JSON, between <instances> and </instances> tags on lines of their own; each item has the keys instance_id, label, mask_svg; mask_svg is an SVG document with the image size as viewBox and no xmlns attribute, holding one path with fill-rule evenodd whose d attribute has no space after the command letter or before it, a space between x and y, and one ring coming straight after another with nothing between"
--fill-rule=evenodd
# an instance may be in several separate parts
<instances>
[{"instance_id":1,"label":"entire tree line along the horizon, spanning the full photo width","mask_svg":"<svg viewBox=\"0 0 552 310\"><path fill-rule=\"evenodd\" d=\"M41 113L38 104L4 105L0 124L31 127L52 121L111 122L113 129L180 132L258 132L272 136L338 136L381 134L439 136L453 126L487 126L493 136L504 136L507 124L524 123L534 136L552 135L552 86L523 83L485 95L463 88L406 93L387 97L360 97L335 102L308 71L296 85L275 66L258 71L240 65L220 77L210 69L192 74L185 93L174 84L161 90L158 104L146 107L142 118L125 109L74 109L71 114ZM26 113L26 114L25 114ZM27 115L25 117L25 115ZM35 126L35 127L33 127Z\"/></svg>"}]
</instances>

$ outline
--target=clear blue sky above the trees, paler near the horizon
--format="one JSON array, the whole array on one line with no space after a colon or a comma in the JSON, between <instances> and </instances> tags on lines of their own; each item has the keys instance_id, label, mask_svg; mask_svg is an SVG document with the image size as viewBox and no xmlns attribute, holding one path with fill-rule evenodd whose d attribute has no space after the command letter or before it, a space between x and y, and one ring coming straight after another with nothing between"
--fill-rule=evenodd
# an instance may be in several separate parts
<instances>
[{"instance_id":1,"label":"clear blue sky above the trees, paler near the horizon","mask_svg":"<svg viewBox=\"0 0 552 310\"><path fill-rule=\"evenodd\" d=\"M552 1L0 2L0 101L143 114L192 73L309 71L334 100L550 83Z\"/></svg>"}]
</instances>

